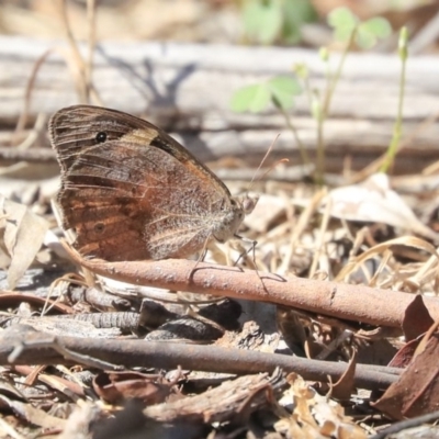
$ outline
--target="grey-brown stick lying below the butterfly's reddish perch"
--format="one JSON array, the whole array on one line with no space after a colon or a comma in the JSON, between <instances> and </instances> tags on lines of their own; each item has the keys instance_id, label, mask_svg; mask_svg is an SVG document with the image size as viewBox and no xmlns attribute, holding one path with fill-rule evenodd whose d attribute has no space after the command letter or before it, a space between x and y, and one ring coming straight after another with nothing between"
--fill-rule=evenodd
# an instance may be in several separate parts
<instances>
[{"instance_id":1,"label":"grey-brown stick lying below the butterfly's reddish perch","mask_svg":"<svg viewBox=\"0 0 439 439\"><path fill-rule=\"evenodd\" d=\"M55 351L47 344L50 338L60 348ZM79 337L56 337L44 333L29 331L21 326L12 326L0 336L0 364L9 364L9 356L18 346L24 346L14 364L66 364L71 359L64 358L61 350L74 352L77 358L94 363L127 368L153 367L159 369L203 370L219 373L249 374L273 372L281 368L285 372L296 372L305 380L336 382L345 373L347 363L308 360L219 346L183 345L162 341L115 340ZM43 347L42 347L43 346ZM75 361L78 361L75 359ZM87 361L87 362L89 362ZM101 368L103 368L101 365ZM105 367L104 367L105 368ZM109 365L106 365L109 368ZM386 389L398 379L401 370L357 364L354 383L361 389Z\"/></svg>"}]
</instances>

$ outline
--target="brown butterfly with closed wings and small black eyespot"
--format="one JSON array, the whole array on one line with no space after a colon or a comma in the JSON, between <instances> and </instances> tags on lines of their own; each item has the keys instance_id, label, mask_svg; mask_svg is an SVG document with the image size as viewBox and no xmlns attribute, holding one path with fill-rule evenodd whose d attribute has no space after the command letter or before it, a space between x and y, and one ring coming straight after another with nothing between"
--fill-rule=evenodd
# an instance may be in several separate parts
<instances>
[{"instance_id":1,"label":"brown butterfly with closed wings and small black eyespot","mask_svg":"<svg viewBox=\"0 0 439 439\"><path fill-rule=\"evenodd\" d=\"M63 226L82 256L108 261L187 258L236 236L255 203L149 122L76 105L49 122L61 168Z\"/></svg>"}]
</instances>

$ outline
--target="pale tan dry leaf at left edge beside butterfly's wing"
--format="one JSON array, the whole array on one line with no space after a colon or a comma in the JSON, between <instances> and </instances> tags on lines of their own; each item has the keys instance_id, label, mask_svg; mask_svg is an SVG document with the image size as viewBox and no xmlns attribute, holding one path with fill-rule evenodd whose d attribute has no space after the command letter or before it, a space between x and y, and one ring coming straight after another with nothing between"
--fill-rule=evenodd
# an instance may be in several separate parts
<instances>
[{"instance_id":1,"label":"pale tan dry leaf at left edge beside butterfly's wing","mask_svg":"<svg viewBox=\"0 0 439 439\"><path fill-rule=\"evenodd\" d=\"M3 252L8 255L8 283L13 290L19 279L38 252L48 223L25 205L14 203L0 194L0 233L3 232ZM7 262L7 258L2 258ZM1 267L7 268L7 267Z\"/></svg>"}]
</instances>

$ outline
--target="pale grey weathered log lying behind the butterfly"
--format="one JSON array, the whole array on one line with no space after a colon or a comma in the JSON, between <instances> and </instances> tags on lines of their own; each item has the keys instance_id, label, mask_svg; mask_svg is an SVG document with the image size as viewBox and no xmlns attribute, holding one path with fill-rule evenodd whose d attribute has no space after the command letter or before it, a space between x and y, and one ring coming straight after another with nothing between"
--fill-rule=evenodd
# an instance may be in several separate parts
<instances>
[{"instance_id":1,"label":"pale grey weathered log lying behind the butterfly","mask_svg":"<svg viewBox=\"0 0 439 439\"><path fill-rule=\"evenodd\" d=\"M0 37L0 122L12 123L23 110L24 88L31 70L45 50L32 92L31 119L78 103L72 58L64 42ZM64 54L64 55L61 55ZM333 61L337 55L333 56ZM179 132L202 159L225 154L258 161L277 133L277 149L295 160L297 146L274 109L264 114L235 114L228 103L234 90L275 75L289 75L304 63L314 88L325 87L325 65L316 50L275 47L221 46L177 43L105 42L95 54L93 82L103 103L142 114L165 130ZM401 63L394 54L349 55L326 125L329 170L337 170L346 155L353 166L365 166L386 148L396 113ZM432 114L439 114L439 58L408 60L404 105L404 133ZM309 150L316 132L305 97L296 100L293 121ZM201 135L198 135L201 133ZM401 155L399 167L421 168L439 158L439 126L420 131ZM405 157L405 158L404 158ZM416 164L413 161L416 157ZM415 170L408 168L409 170ZM403 169L399 169L403 170Z\"/></svg>"}]
</instances>

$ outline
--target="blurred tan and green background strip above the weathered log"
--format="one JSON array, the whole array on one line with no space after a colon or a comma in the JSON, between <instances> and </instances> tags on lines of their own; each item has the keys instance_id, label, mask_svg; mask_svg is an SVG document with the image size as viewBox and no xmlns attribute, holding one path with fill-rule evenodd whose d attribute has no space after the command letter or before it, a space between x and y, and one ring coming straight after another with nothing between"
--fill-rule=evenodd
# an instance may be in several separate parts
<instances>
[{"instance_id":1,"label":"blurred tan and green background strip above the weathered log","mask_svg":"<svg viewBox=\"0 0 439 439\"><path fill-rule=\"evenodd\" d=\"M86 3L67 1L77 38L88 36ZM439 9L439 2L431 0L97 0L95 4L98 40L303 46L328 44L326 16L335 8L347 7L361 20L382 15L395 30L406 24L412 36L432 22ZM2 34L47 38L64 34L59 1L3 0L0 5ZM421 48L434 50L436 35L435 29L429 30Z\"/></svg>"}]
</instances>

